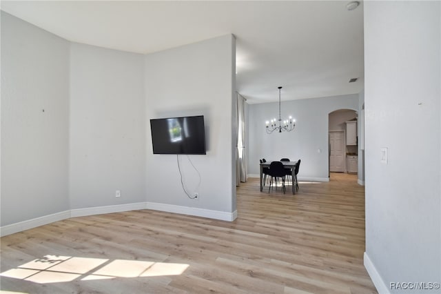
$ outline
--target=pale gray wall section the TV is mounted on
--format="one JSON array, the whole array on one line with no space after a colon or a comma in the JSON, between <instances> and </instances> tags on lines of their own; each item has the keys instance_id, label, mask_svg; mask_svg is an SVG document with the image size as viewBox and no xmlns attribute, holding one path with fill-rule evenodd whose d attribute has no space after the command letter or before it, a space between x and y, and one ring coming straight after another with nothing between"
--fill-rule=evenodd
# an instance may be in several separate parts
<instances>
[{"instance_id":1,"label":"pale gray wall section the TV is mounted on","mask_svg":"<svg viewBox=\"0 0 441 294\"><path fill-rule=\"evenodd\" d=\"M145 56L147 125L147 202L233 213L235 184L235 41L226 35ZM153 155L150 119L204 115L207 155L180 155L185 184L181 187L176 155ZM201 174L198 175L188 158Z\"/></svg>"}]
</instances>

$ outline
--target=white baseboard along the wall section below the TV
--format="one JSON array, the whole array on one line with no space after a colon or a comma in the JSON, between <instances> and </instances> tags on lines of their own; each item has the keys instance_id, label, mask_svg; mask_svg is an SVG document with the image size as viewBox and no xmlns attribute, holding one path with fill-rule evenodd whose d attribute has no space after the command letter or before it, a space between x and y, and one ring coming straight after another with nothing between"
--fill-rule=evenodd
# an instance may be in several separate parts
<instances>
[{"instance_id":1,"label":"white baseboard along the wall section below the TV","mask_svg":"<svg viewBox=\"0 0 441 294\"><path fill-rule=\"evenodd\" d=\"M209 210L204 208L195 208L187 206L177 206L172 204L163 204L147 202L147 209L166 211L167 213L181 213L182 215L193 215L196 217L208 217L210 219L220 219L228 222L234 221L237 217L237 210L232 213L225 211Z\"/></svg>"}]
</instances>

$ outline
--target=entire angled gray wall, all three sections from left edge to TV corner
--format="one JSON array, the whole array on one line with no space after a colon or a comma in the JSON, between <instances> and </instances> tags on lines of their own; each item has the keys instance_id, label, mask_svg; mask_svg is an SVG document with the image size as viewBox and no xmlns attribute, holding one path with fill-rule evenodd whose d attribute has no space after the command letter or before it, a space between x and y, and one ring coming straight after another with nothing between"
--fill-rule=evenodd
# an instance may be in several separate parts
<instances>
[{"instance_id":1,"label":"entire angled gray wall, all three sections from left edge to TV corner","mask_svg":"<svg viewBox=\"0 0 441 294\"><path fill-rule=\"evenodd\" d=\"M232 35L145 56L70 43L1 12L1 50L1 226L146 201L236 210ZM183 194L176 157L152 155L149 121L193 114L205 115L208 146L192 158L198 201Z\"/></svg>"}]
</instances>

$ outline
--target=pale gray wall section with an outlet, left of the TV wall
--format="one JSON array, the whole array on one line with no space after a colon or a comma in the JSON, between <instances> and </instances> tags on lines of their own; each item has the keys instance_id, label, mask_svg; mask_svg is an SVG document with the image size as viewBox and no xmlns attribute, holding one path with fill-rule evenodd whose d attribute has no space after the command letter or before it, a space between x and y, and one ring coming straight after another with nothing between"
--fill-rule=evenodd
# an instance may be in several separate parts
<instances>
[{"instance_id":1,"label":"pale gray wall section with an outlet, left of the TV wall","mask_svg":"<svg viewBox=\"0 0 441 294\"><path fill-rule=\"evenodd\" d=\"M71 209L145 201L143 58L71 44Z\"/></svg>"}]
</instances>

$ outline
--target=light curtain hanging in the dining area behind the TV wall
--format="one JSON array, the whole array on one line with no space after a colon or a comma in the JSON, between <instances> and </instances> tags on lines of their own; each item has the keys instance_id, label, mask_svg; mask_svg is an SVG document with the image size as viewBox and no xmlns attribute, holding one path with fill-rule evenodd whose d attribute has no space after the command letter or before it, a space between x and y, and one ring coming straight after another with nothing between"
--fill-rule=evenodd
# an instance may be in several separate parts
<instances>
[{"instance_id":1,"label":"light curtain hanging in the dining area behind the TV wall","mask_svg":"<svg viewBox=\"0 0 441 294\"><path fill-rule=\"evenodd\" d=\"M245 156L245 98L237 94L236 113L238 118L236 148L236 186L247 182L247 161Z\"/></svg>"}]
</instances>

